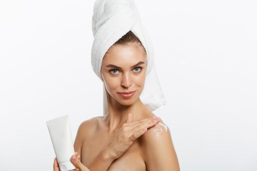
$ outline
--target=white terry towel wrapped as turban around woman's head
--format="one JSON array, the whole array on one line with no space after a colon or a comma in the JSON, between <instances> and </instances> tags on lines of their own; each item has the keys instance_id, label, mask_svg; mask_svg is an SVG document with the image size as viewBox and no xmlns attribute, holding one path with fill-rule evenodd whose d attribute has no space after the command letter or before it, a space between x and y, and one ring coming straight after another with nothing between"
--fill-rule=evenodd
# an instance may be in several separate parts
<instances>
[{"instance_id":1,"label":"white terry towel wrapped as turban around woman's head","mask_svg":"<svg viewBox=\"0 0 257 171\"><path fill-rule=\"evenodd\" d=\"M154 52L150 37L140 21L134 0L96 0L92 17L93 45L91 64L94 73L101 79L101 65L105 53L130 30L146 50L146 78L141 102L151 111L165 105L166 100L158 80L154 64ZM108 112L103 83L103 112Z\"/></svg>"}]
</instances>

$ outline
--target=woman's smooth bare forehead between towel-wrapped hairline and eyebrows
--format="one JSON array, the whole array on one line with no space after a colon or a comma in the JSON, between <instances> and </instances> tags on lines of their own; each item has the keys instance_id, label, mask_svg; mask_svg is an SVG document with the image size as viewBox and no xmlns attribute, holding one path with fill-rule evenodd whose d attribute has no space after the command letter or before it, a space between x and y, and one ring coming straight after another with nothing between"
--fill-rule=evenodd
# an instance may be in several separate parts
<instances>
[{"instance_id":1,"label":"woman's smooth bare forehead between towel-wrapped hairline and eyebrows","mask_svg":"<svg viewBox=\"0 0 257 171\"><path fill-rule=\"evenodd\" d=\"M139 61L146 62L146 53L135 45L114 45L105 54L103 64L135 64Z\"/></svg>"}]
</instances>

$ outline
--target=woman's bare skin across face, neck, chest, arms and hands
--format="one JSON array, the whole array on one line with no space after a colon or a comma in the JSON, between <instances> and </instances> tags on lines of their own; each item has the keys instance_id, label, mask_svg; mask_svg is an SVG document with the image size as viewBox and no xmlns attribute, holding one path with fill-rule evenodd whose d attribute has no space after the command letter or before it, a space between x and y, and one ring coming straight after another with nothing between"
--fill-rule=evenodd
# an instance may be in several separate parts
<instances>
[{"instance_id":1,"label":"woman's bare skin across face, neck, chest, arms and hands","mask_svg":"<svg viewBox=\"0 0 257 171\"><path fill-rule=\"evenodd\" d=\"M152 122L155 115L140 101L146 67L146 53L133 43L114 45L105 54L101 76L108 113L79 126L71 158L77 171L180 171L169 128L160 118ZM134 90L129 99L118 94Z\"/></svg>"}]
</instances>

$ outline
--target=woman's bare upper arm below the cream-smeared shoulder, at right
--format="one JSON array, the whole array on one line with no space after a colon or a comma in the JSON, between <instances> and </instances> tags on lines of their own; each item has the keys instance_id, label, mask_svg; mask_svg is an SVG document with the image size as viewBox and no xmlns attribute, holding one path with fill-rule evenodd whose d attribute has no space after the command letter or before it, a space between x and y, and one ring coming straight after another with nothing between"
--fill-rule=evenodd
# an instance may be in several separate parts
<instances>
[{"instance_id":1,"label":"woman's bare upper arm below the cream-smeared shoulder, at right","mask_svg":"<svg viewBox=\"0 0 257 171\"><path fill-rule=\"evenodd\" d=\"M147 171L180 171L170 130L162 121L145 132L142 151Z\"/></svg>"}]
</instances>

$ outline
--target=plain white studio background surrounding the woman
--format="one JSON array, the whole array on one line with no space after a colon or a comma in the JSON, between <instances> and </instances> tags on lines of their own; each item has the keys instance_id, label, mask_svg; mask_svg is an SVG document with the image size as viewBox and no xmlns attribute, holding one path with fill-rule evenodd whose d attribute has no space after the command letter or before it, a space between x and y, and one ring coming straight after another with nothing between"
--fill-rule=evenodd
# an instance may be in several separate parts
<instances>
[{"instance_id":1,"label":"plain white studio background surrounding the woman","mask_svg":"<svg viewBox=\"0 0 257 171\"><path fill-rule=\"evenodd\" d=\"M257 171L257 1L135 0L181 171ZM52 171L46 121L102 115L93 0L0 1L0 170Z\"/></svg>"}]
</instances>

